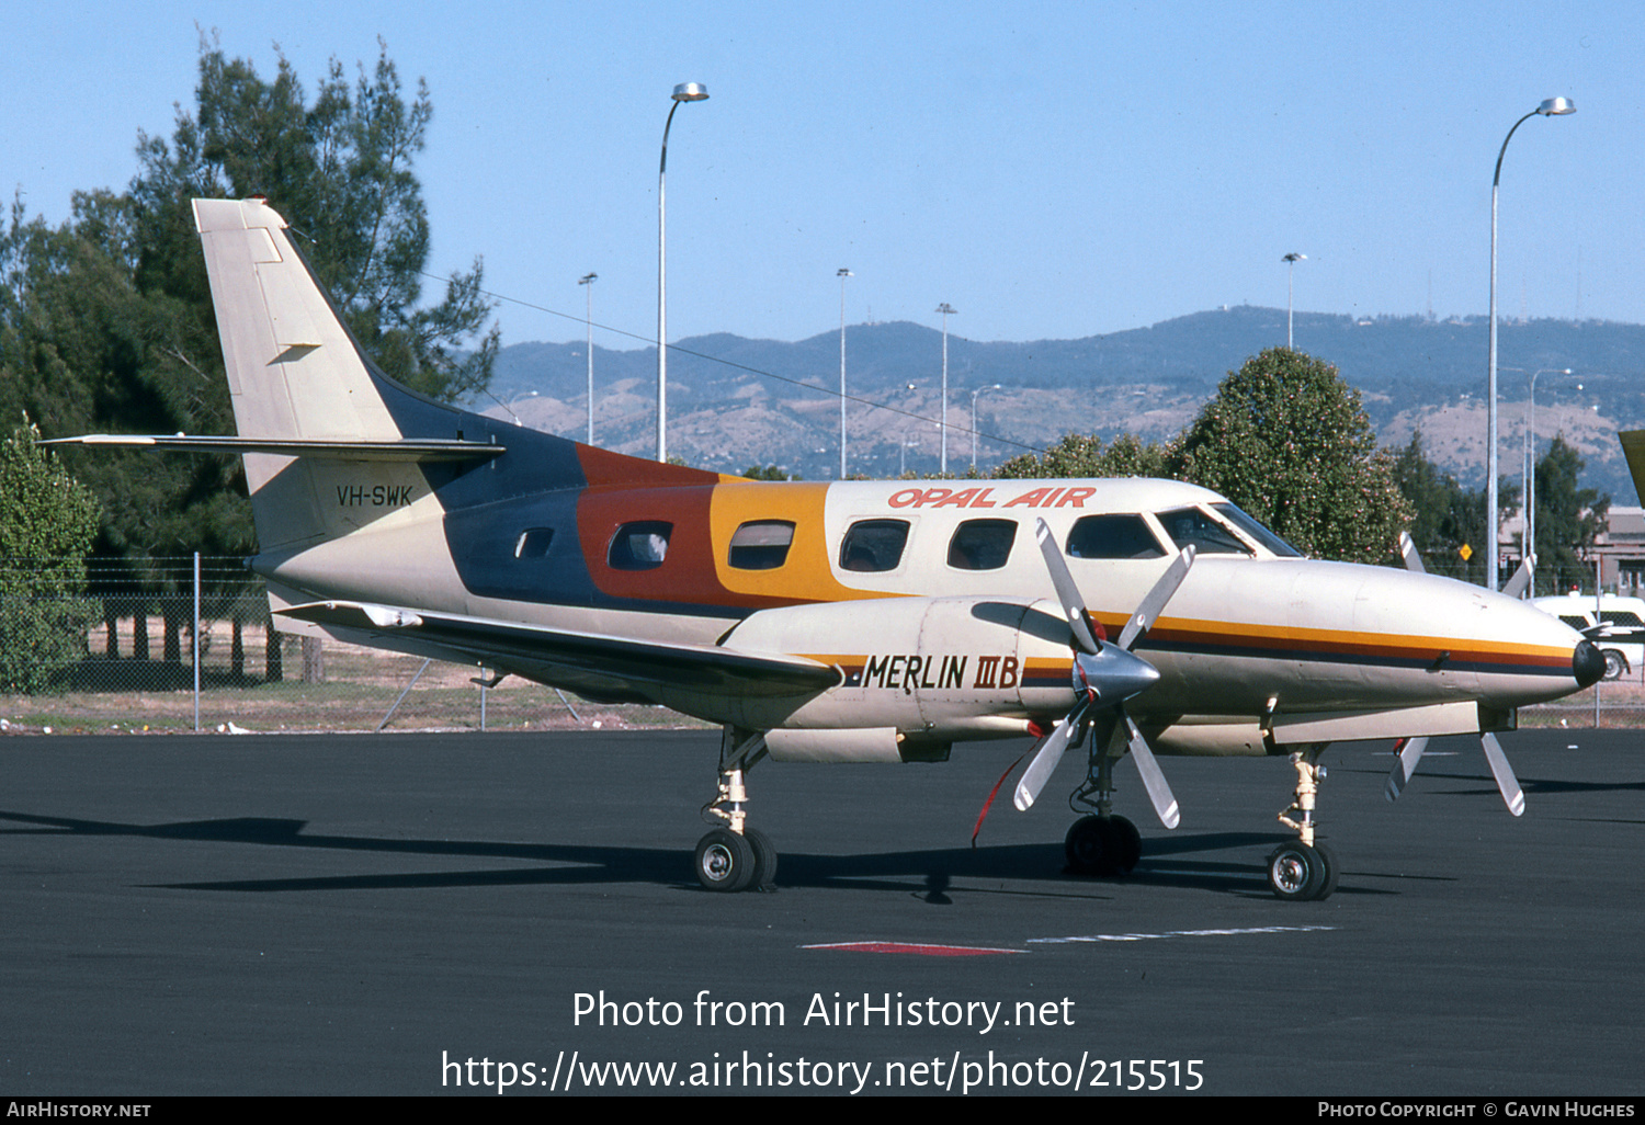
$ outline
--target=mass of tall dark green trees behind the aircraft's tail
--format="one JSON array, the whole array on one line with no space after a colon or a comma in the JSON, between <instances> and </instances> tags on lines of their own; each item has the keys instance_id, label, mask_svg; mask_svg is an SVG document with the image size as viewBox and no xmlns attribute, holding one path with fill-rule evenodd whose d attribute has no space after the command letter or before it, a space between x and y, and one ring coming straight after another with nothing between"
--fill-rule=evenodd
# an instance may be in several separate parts
<instances>
[{"instance_id":1,"label":"mass of tall dark green trees behind the aircraft's tail","mask_svg":"<svg viewBox=\"0 0 1645 1125\"><path fill-rule=\"evenodd\" d=\"M400 382L454 401L492 375L480 266L419 308L429 230L411 171L433 115L387 51L349 81L332 62L313 100L280 59L201 44L192 112L140 137L123 194L81 192L59 229L13 204L0 227L0 410L51 436L234 433L192 197L265 194L286 217L365 350ZM237 457L64 454L100 498L99 554L255 549Z\"/></svg>"}]
</instances>

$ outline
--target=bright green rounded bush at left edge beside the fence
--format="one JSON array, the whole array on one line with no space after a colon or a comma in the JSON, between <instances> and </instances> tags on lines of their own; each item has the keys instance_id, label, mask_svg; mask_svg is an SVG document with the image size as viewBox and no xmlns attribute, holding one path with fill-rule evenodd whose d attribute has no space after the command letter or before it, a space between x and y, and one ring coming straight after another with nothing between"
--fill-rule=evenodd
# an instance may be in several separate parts
<instances>
[{"instance_id":1,"label":"bright green rounded bush at left edge beside the fence","mask_svg":"<svg viewBox=\"0 0 1645 1125\"><path fill-rule=\"evenodd\" d=\"M46 461L39 433L0 441L0 691L38 692L86 651L84 597L97 502Z\"/></svg>"}]
</instances>

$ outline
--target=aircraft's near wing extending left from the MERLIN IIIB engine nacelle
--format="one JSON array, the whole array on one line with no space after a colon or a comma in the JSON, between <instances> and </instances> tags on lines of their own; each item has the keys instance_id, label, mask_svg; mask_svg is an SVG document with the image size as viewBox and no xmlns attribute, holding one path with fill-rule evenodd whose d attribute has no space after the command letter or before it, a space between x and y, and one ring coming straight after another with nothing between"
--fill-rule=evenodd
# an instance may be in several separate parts
<instances>
[{"instance_id":1,"label":"aircraft's near wing extending left from the MERLIN IIIB engine nacelle","mask_svg":"<svg viewBox=\"0 0 1645 1125\"><path fill-rule=\"evenodd\" d=\"M309 602L275 612L319 625L337 640L456 663L484 663L600 699L650 702L660 686L739 696L803 696L842 681L839 668L803 656L607 637L368 602Z\"/></svg>"}]
</instances>

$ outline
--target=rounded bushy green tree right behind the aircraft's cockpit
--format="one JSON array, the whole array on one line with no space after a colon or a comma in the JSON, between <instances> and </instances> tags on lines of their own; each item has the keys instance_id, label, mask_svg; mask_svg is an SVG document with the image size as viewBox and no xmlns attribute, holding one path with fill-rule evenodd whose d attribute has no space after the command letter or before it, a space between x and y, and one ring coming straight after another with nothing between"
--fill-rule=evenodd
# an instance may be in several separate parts
<instances>
[{"instance_id":1,"label":"rounded bushy green tree right behind the aircraft's cockpit","mask_svg":"<svg viewBox=\"0 0 1645 1125\"><path fill-rule=\"evenodd\" d=\"M1230 372L1168 461L1316 558L1390 561L1411 516L1359 393L1283 347Z\"/></svg>"}]
</instances>

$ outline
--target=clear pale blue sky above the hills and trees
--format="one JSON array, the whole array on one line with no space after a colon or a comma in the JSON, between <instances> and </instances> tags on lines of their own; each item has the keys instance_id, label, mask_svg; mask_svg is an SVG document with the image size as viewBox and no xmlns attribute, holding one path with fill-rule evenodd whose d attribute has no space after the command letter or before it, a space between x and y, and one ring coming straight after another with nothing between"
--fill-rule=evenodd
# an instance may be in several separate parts
<instances>
[{"instance_id":1,"label":"clear pale blue sky above the hills and trees","mask_svg":"<svg viewBox=\"0 0 1645 1125\"><path fill-rule=\"evenodd\" d=\"M824 10L826 8L826 10ZM59 220L192 105L199 28L309 90L388 44L429 84L431 268L484 255L505 342L846 316L982 340L1221 304L1482 314L1504 164L1505 316L1645 321L1645 31L1624 3L54 3L0 26L0 186ZM635 347L599 334L610 347Z\"/></svg>"}]
</instances>

